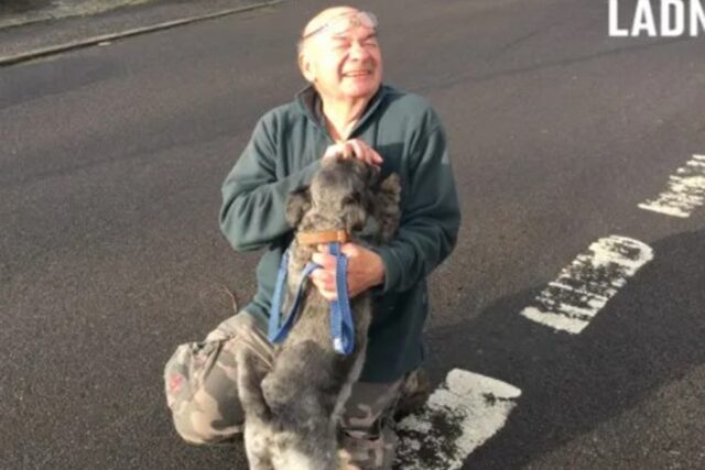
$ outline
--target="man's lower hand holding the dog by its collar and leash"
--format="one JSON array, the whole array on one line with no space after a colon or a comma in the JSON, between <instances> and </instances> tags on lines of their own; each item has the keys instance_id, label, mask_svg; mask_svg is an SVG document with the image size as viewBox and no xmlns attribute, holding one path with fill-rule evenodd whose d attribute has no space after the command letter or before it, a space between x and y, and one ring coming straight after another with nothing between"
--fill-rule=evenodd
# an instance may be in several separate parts
<instances>
[{"instance_id":1,"label":"man's lower hand holding the dog by its collar and leash","mask_svg":"<svg viewBox=\"0 0 705 470\"><path fill-rule=\"evenodd\" d=\"M340 252L348 258L348 296L350 298L384 282L384 264L379 254L355 243L345 243L340 247ZM311 261L322 266L311 275L321 295L329 302L338 298L335 256L328 253L328 247L318 245L318 253L314 253Z\"/></svg>"}]
</instances>

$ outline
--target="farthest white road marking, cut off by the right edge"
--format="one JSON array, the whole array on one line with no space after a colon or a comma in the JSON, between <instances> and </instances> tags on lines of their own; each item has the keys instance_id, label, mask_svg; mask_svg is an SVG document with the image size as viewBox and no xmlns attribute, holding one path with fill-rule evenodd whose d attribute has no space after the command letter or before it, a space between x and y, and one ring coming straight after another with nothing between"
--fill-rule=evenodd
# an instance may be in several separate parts
<instances>
[{"instance_id":1,"label":"farthest white road marking, cut off by the right edge","mask_svg":"<svg viewBox=\"0 0 705 470\"><path fill-rule=\"evenodd\" d=\"M705 155L693 155L669 178L668 189L639 207L673 217L688 217L705 203Z\"/></svg>"}]
</instances>

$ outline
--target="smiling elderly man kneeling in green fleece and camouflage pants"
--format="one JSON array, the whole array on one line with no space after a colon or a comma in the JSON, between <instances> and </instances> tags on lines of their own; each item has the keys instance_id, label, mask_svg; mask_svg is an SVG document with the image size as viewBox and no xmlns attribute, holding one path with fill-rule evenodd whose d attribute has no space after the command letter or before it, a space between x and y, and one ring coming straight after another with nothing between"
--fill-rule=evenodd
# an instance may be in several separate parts
<instances>
[{"instance_id":1,"label":"smiling elderly man kneeling in green fleece and camouflage pants","mask_svg":"<svg viewBox=\"0 0 705 470\"><path fill-rule=\"evenodd\" d=\"M429 311L425 278L453 250L459 225L445 133L424 99L382 85L372 13L349 7L321 12L302 32L299 65L310 86L258 122L223 186L225 237L238 251L264 249L257 294L204 342L177 349L165 370L169 405L188 441L227 441L240 431L231 350L241 341L264 363L271 359L262 331L292 239L286 197L311 182L322 159L362 159L383 175L400 175L402 220L392 243L343 247L350 296L373 288L378 300L366 365L341 419L341 444L358 467L390 468L394 411L414 394L427 396L415 372ZM313 258L323 266L313 282L328 299L336 296L334 260L325 250Z\"/></svg>"}]
</instances>

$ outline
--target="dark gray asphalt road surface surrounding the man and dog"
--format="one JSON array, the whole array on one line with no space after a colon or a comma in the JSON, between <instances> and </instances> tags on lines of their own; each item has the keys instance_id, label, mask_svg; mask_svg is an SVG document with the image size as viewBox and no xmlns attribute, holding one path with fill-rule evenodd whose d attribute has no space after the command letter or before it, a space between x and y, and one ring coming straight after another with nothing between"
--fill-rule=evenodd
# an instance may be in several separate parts
<instances>
[{"instance_id":1,"label":"dark gray asphalt road surface surrounding the man and dog","mask_svg":"<svg viewBox=\"0 0 705 470\"><path fill-rule=\"evenodd\" d=\"M183 444L164 362L253 293L219 186L303 81L297 0L0 70L0 468L243 468ZM522 390L473 469L705 468L705 208L637 207L705 153L705 39L609 39L607 3L360 1L444 119L464 223L429 368ZM578 336L519 311L593 241L654 260Z\"/></svg>"}]
</instances>

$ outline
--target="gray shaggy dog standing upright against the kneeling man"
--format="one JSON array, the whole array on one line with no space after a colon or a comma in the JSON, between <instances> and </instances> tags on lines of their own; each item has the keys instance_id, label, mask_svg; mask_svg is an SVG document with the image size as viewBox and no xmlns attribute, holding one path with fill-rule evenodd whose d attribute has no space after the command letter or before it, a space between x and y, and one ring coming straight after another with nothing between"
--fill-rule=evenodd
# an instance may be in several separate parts
<instances>
[{"instance_id":1,"label":"gray shaggy dog standing upright against the kneeling man","mask_svg":"<svg viewBox=\"0 0 705 470\"><path fill-rule=\"evenodd\" d=\"M351 241L382 243L399 226L399 177L380 182L379 168L357 159L326 159L310 188L290 196L286 219L296 228L290 248L283 311L293 302L301 272L317 249L302 233L344 232ZM360 232L366 239L360 240ZM369 238L367 238L369 236ZM239 348L238 393L245 409L245 445L252 470L336 470L337 425L359 378L371 320L372 296L350 300L355 349L337 354L329 330L329 303L311 284L296 323L274 348L268 370L248 348Z\"/></svg>"}]
</instances>

